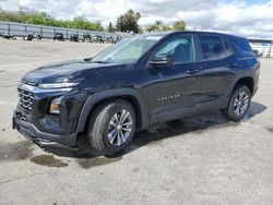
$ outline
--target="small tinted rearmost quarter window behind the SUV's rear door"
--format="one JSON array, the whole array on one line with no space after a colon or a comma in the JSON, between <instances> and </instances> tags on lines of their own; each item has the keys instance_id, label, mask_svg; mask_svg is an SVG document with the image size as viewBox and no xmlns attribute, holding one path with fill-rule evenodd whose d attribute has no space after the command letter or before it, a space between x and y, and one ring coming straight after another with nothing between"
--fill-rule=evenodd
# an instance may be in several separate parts
<instances>
[{"instance_id":1,"label":"small tinted rearmost quarter window behind the SUV's rear door","mask_svg":"<svg viewBox=\"0 0 273 205\"><path fill-rule=\"evenodd\" d=\"M234 50L239 56L253 55L252 48L250 47L247 39L244 38L230 38L228 43L233 46Z\"/></svg>"}]
</instances>

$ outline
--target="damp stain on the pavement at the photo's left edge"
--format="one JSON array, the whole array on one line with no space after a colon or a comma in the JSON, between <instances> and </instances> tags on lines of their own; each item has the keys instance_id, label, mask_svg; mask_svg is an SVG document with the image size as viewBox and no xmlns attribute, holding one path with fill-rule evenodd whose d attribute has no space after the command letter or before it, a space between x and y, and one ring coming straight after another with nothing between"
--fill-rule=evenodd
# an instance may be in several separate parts
<instances>
[{"instance_id":1,"label":"damp stain on the pavement at the photo's left edge","mask_svg":"<svg viewBox=\"0 0 273 205\"><path fill-rule=\"evenodd\" d=\"M0 160L21 160L33 156L34 145L29 141L0 144Z\"/></svg>"}]
</instances>

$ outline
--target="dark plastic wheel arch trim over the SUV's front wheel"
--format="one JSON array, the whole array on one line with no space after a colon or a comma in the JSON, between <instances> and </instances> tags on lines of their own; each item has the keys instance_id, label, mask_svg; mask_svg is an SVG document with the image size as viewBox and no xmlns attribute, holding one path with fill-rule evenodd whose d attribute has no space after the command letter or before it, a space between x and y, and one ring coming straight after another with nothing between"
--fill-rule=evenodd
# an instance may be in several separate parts
<instances>
[{"instance_id":1,"label":"dark plastic wheel arch trim over the SUV's front wheel","mask_svg":"<svg viewBox=\"0 0 273 205\"><path fill-rule=\"evenodd\" d=\"M136 114L138 130L143 130L149 125L149 118L146 114L145 106L139 92L133 88L115 88L93 94L87 98L79 117L76 129L78 133L85 131L88 118L98 105L114 99L126 99L132 104Z\"/></svg>"}]
</instances>

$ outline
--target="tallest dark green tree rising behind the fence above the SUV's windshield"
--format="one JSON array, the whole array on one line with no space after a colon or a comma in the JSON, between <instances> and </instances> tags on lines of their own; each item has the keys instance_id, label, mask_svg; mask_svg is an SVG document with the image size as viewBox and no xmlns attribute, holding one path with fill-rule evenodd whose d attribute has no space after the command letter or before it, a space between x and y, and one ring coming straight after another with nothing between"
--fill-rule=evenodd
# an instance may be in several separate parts
<instances>
[{"instance_id":1,"label":"tallest dark green tree rising behind the fence above the SUV's windshield","mask_svg":"<svg viewBox=\"0 0 273 205\"><path fill-rule=\"evenodd\" d=\"M139 33L138 22L140 17L141 17L141 14L139 12L129 10L127 13L120 15L117 19L117 26L116 26L117 31Z\"/></svg>"}]
</instances>

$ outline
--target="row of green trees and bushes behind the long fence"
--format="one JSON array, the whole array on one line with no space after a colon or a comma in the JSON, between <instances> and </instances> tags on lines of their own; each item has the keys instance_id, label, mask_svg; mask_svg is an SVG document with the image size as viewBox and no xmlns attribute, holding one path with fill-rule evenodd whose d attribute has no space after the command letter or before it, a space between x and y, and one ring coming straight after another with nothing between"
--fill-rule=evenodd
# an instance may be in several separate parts
<instances>
[{"instance_id":1,"label":"row of green trees and bushes behind the long fence","mask_svg":"<svg viewBox=\"0 0 273 205\"><path fill-rule=\"evenodd\" d=\"M146 27L139 25L141 14L129 10L124 14L117 17L116 26L110 22L107 28L108 32L165 32L165 31L185 31L186 23L177 21L174 25L164 24L162 21L156 21L154 24ZM84 16L76 16L73 20L56 20L46 12L27 11L20 9L19 11L4 11L0 9L0 21L57 26L66 28L87 29L103 32L104 27L99 21L91 22Z\"/></svg>"}]
</instances>

